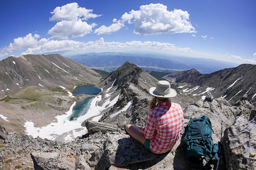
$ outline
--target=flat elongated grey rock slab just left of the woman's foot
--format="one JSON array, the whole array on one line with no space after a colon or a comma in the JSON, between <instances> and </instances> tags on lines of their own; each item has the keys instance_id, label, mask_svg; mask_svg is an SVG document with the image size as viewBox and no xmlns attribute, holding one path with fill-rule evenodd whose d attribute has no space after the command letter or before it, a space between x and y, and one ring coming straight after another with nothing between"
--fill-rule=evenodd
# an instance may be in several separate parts
<instances>
[{"instance_id":1,"label":"flat elongated grey rock slab just left of the woman's foot","mask_svg":"<svg viewBox=\"0 0 256 170\"><path fill-rule=\"evenodd\" d=\"M117 132L121 131L120 128L112 125L106 124L98 121L84 121L81 126L86 127L89 135L92 135L97 132L106 133L108 131Z\"/></svg>"}]
</instances>

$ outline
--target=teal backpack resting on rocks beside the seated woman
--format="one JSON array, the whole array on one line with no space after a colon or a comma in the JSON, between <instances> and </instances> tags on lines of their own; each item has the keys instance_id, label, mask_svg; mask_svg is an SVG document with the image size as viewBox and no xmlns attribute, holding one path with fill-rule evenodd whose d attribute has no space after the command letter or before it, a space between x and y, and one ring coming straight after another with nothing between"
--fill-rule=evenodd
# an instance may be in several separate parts
<instances>
[{"instance_id":1,"label":"teal backpack resting on rocks beside the seated woman","mask_svg":"<svg viewBox=\"0 0 256 170\"><path fill-rule=\"evenodd\" d=\"M185 127L183 150L191 167L202 167L203 159L207 164L217 163L218 145L213 144L212 133L212 123L206 115L192 118Z\"/></svg>"}]
</instances>

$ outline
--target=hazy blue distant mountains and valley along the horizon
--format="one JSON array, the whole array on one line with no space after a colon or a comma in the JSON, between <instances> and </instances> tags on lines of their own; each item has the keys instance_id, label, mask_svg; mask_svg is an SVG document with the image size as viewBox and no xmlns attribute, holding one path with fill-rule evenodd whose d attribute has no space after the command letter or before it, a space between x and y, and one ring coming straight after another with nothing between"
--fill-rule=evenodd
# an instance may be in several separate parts
<instances>
[{"instance_id":1,"label":"hazy blue distant mountains and valley along the horizon","mask_svg":"<svg viewBox=\"0 0 256 170\"><path fill-rule=\"evenodd\" d=\"M145 70L174 72L196 69L201 73L215 72L220 69L236 67L239 64L216 61L206 58L175 57L158 54L128 54L128 53L88 53L68 57L86 66L102 69L108 72L116 70L123 63L129 61Z\"/></svg>"}]
</instances>

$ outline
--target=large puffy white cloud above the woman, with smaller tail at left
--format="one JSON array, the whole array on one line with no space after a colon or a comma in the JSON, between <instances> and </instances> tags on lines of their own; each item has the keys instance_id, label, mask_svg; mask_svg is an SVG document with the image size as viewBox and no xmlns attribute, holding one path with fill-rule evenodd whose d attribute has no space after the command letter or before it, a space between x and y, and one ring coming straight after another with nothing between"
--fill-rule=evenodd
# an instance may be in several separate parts
<instances>
[{"instance_id":1,"label":"large puffy white cloud above the woman, with smaller tail at left","mask_svg":"<svg viewBox=\"0 0 256 170\"><path fill-rule=\"evenodd\" d=\"M112 34L122 29L125 26L124 23L134 24L134 33L139 35L196 32L189 21L188 12L181 9L168 11L167 6L160 3L143 5L138 11L125 12L120 20L114 19L113 22L111 26L99 27L94 33L97 35Z\"/></svg>"}]
</instances>

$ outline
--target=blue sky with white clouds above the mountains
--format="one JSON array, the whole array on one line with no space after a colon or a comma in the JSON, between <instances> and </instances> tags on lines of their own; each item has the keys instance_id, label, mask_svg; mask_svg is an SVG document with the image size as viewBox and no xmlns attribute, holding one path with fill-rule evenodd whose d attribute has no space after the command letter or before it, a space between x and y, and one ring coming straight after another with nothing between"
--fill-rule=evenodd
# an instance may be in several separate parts
<instances>
[{"instance_id":1,"label":"blue sky with white clouds above the mountains","mask_svg":"<svg viewBox=\"0 0 256 170\"><path fill-rule=\"evenodd\" d=\"M254 0L0 1L0 60L161 52L256 64Z\"/></svg>"}]
</instances>

